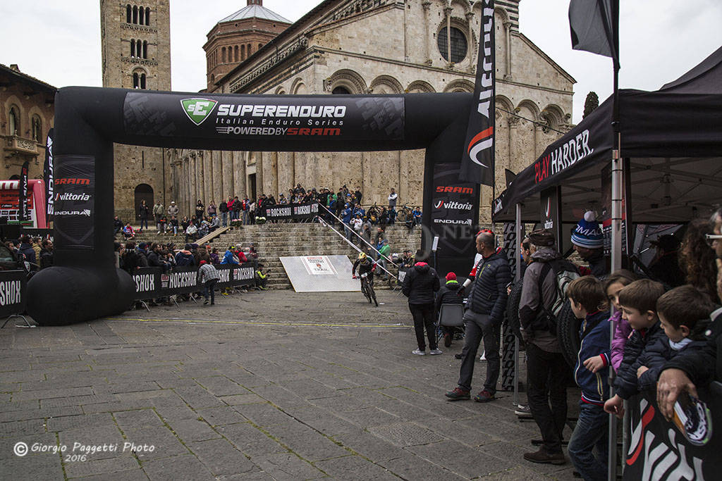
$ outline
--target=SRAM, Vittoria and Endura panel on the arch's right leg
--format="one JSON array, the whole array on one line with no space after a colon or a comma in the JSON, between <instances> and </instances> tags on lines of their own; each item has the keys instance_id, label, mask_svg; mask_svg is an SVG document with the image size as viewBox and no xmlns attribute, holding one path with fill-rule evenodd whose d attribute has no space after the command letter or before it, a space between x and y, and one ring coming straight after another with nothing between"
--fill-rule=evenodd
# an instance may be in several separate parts
<instances>
[{"instance_id":1,"label":"SRAM, Vittoria and Endura panel on the arch's right leg","mask_svg":"<svg viewBox=\"0 0 722 481\"><path fill-rule=\"evenodd\" d=\"M458 257L476 242L474 212L479 211L479 185L459 182L459 164L435 164L432 190L432 237L439 237L438 257ZM471 259L468 261L471 262Z\"/></svg>"}]
</instances>

